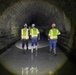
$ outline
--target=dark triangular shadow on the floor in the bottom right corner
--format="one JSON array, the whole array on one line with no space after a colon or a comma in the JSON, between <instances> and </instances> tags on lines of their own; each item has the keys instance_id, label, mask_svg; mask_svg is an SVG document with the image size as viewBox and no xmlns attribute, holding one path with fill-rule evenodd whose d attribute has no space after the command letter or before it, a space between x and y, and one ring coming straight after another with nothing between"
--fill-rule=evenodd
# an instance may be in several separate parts
<instances>
[{"instance_id":1,"label":"dark triangular shadow on the floor in the bottom right corner","mask_svg":"<svg viewBox=\"0 0 76 75\"><path fill-rule=\"evenodd\" d=\"M67 60L66 63L54 73L54 75L76 75L76 66Z\"/></svg>"}]
</instances>

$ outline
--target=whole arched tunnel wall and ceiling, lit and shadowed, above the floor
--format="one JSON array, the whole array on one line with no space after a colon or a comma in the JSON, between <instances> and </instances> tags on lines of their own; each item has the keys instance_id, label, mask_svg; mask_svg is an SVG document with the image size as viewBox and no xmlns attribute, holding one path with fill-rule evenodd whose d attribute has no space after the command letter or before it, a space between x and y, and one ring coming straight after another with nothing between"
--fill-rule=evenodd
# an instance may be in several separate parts
<instances>
[{"instance_id":1,"label":"whole arched tunnel wall and ceiling, lit and shadowed, above the floor","mask_svg":"<svg viewBox=\"0 0 76 75\"><path fill-rule=\"evenodd\" d=\"M69 4L71 8L68 7ZM0 54L2 55L7 52L21 39L20 33L25 23L27 23L28 28L31 27L33 23L36 24L36 27L41 33L41 39L45 38L47 42L51 25L52 23L56 23L56 27L61 32L61 35L58 36L57 47L68 59L71 59L70 61L74 61L72 58L74 57L76 59L76 40L74 36L75 13L73 14L74 10L72 7L74 5L72 6L72 4L74 4L74 2L70 0L63 0L62 2L55 0L2 1L1 9L4 10L0 10ZM69 9L71 9L71 11L69 11ZM13 50L11 51L13 52ZM44 52L46 53L46 51Z\"/></svg>"}]
</instances>

